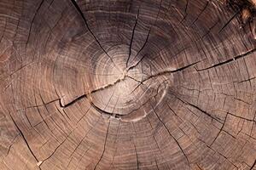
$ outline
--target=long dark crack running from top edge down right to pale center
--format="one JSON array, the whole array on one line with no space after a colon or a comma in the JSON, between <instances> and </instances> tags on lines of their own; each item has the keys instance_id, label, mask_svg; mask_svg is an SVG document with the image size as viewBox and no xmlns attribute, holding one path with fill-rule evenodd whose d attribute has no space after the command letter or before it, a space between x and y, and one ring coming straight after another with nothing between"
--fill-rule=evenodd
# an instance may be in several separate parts
<instances>
[{"instance_id":1,"label":"long dark crack running from top edge down right to pale center","mask_svg":"<svg viewBox=\"0 0 256 170\"><path fill-rule=\"evenodd\" d=\"M78 10L79 14L81 15L82 19L84 20L84 24L87 27L88 31L90 32L90 34L92 35L92 37L94 37L94 39L96 40L97 44L100 46L100 48L102 48L103 52L105 54L107 54L108 58L113 62L112 57L107 53L107 51L102 47L101 42L99 42L99 40L96 38L96 36L94 35L94 33L90 30L90 27L87 23L87 20L84 16L84 13L82 12L81 8L79 8L78 3L76 3L75 0L71 0L71 2L73 3L73 6ZM113 62L113 65L120 71L119 67Z\"/></svg>"}]
</instances>

